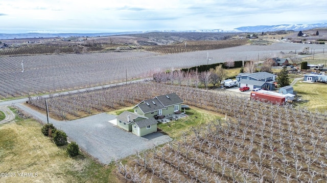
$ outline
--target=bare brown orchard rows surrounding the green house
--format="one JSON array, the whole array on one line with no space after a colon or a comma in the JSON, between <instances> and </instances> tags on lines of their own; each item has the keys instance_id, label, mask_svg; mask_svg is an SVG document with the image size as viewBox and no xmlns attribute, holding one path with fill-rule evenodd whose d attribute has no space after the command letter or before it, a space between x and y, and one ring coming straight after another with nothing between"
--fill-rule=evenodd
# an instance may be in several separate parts
<instances>
[{"instance_id":1,"label":"bare brown orchard rows surrounding the green house","mask_svg":"<svg viewBox=\"0 0 327 183\"><path fill-rule=\"evenodd\" d=\"M129 93L131 88L133 92ZM57 105L58 110L82 110L79 106L87 106L89 101L77 98L98 99L100 93L103 96L110 96L106 95L109 93L120 95L94 100L95 108L112 104L127 106L131 101L137 103L172 92L191 108L227 114L228 119L211 118L205 123L201 121L199 126L185 126L188 132L181 133L176 141L136 152L135 156L124 159L118 163L118 170L126 179L137 182L149 179L152 182L325 182L326 112L310 112L288 104L272 105L224 92L149 82L54 97L49 99L49 106ZM34 101L39 102L43 103L43 99ZM186 111L189 117L176 123L188 123L199 115L195 113ZM160 124L160 127L169 131L169 126L174 124Z\"/></svg>"}]
</instances>

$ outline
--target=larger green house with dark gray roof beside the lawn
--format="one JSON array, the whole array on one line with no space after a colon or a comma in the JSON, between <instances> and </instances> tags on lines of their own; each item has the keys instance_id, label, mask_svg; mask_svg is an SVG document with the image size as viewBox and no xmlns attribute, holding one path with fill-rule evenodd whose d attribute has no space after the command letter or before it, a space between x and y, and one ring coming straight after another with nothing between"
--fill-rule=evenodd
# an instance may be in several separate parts
<instances>
[{"instance_id":1,"label":"larger green house with dark gray roof beside the lawn","mask_svg":"<svg viewBox=\"0 0 327 183\"><path fill-rule=\"evenodd\" d=\"M158 118L180 112L182 103L183 100L172 93L144 100L133 107L133 110L135 114Z\"/></svg>"}]
</instances>

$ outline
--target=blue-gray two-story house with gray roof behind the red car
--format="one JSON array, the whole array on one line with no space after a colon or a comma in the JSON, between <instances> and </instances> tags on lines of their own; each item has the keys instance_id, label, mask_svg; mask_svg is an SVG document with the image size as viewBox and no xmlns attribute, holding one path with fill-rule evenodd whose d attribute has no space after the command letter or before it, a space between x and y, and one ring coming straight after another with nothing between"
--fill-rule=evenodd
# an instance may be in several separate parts
<instances>
[{"instance_id":1,"label":"blue-gray two-story house with gray roof behind the red car","mask_svg":"<svg viewBox=\"0 0 327 183\"><path fill-rule=\"evenodd\" d=\"M273 90L275 89L275 79L276 75L268 72L240 73L236 76L236 80L239 82L239 87L248 86L250 89L260 88Z\"/></svg>"}]
</instances>

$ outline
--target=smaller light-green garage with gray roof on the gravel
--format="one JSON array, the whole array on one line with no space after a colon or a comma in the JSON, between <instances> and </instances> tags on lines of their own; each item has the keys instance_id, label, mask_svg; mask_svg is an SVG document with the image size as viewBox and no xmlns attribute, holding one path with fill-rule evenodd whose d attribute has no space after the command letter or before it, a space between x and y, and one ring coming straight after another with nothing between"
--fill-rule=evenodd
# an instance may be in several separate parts
<instances>
[{"instance_id":1,"label":"smaller light-green garage with gray roof on the gravel","mask_svg":"<svg viewBox=\"0 0 327 183\"><path fill-rule=\"evenodd\" d=\"M132 132L137 136L144 136L157 131L157 120L133 112L124 111L116 116L117 126Z\"/></svg>"}]
</instances>

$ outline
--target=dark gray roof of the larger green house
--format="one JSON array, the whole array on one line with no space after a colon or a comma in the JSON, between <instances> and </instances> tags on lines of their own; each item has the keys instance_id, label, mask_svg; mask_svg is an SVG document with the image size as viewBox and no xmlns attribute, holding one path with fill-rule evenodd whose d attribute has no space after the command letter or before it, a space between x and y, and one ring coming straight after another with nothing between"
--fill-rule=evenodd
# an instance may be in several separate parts
<instances>
[{"instance_id":1,"label":"dark gray roof of the larger green house","mask_svg":"<svg viewBox=\"0 0 327 183\"><path fill-rule=\"evenodd\" d=\"M178 95L176 95L175 93L172 93L142 101L136 106L138 106L143 111L143 113L148 113L159 109L165 109L168 106L181 103L183 103L183 100L179 98Z\"/></svg>"}]
</instances>

